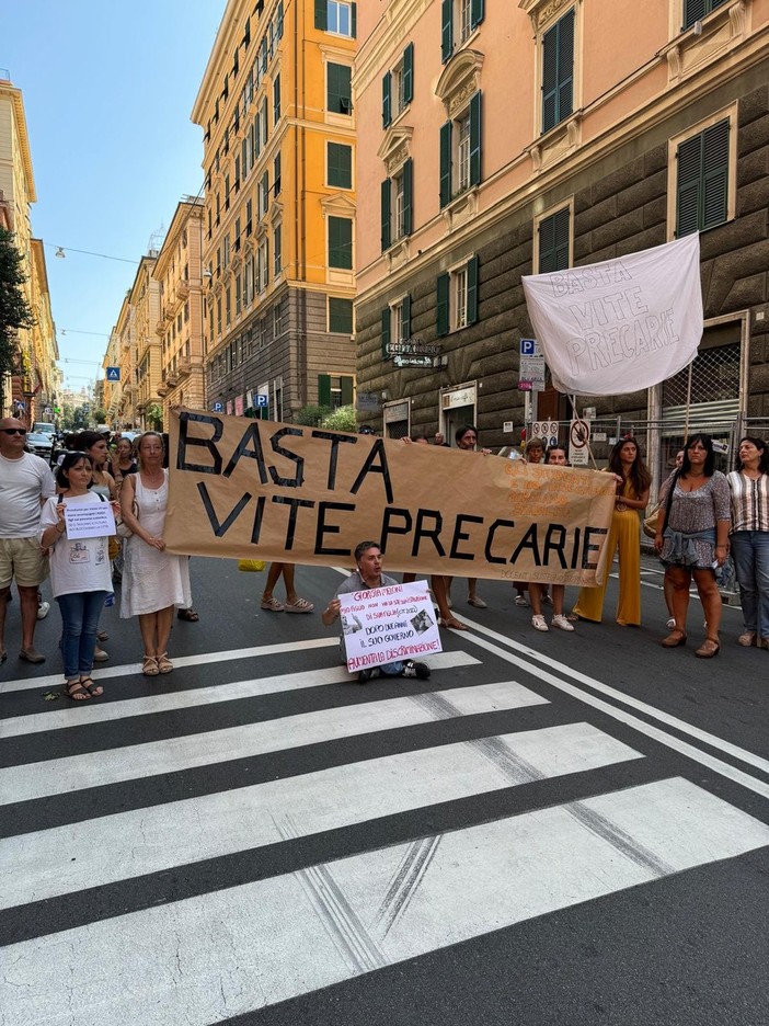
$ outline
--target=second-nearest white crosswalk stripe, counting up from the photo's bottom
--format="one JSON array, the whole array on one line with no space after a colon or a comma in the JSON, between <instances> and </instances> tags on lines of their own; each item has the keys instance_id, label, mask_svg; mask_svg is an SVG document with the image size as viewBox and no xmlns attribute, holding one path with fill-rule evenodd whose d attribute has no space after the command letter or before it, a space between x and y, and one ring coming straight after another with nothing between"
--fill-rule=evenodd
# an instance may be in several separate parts
<instances>
[{"instance_id":1,"label":"second-nearest white crosswalk stripe, counting up from the photo's bottom","mask_svg":"<svg viewBox=\"0 0 769 1026\"><path fill-rule=\"evenodd\" d=\"M3 841L0 908L642 757L596 727L567 723L42 830Z\"/></svg>"}]
</instances>

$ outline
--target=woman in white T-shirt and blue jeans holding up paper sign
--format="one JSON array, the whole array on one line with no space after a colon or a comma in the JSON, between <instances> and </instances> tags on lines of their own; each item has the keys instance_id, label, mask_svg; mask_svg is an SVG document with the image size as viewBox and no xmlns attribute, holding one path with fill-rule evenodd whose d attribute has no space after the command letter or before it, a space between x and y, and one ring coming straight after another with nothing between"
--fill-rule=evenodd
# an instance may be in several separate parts
<instances>
[{"instance_id":1,"label":"woman in white T-shirt and blue jeans holding up paper sign","mask_svg":"<svg viewBox=\"0 0 769 1026\"><path fill-rule=\"evenodd\" d=\"M65 510L105 500L90 491L93 465L85 453L65 455L56 483L58 492L41 514L41 545L50 551L50 584L61 613L66 694L74 702L87 702L104 692L101 684L94 684L91 668L99 617L112 591L108 539L68 538Z\"/></svg>"}]
</instances>

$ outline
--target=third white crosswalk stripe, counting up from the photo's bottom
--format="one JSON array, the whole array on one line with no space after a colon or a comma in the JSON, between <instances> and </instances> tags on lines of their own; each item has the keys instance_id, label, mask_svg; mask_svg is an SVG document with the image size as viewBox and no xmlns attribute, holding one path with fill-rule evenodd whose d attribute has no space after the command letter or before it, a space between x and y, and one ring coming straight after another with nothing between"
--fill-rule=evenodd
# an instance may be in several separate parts
<instances>
[{"instance_id":1,"label":"third white crosswalk stripe, counting up from the photo's bottom","mask_svg":"<svg viewBox=\"0 0 769 1026\"><path fill-rule=\"evenodd\" d=\"M502 681L45 760L0 771L0 805L176 773L337 738L536 705L548 705L548 700L515 681Z\"/></svg>"}]
</instances>

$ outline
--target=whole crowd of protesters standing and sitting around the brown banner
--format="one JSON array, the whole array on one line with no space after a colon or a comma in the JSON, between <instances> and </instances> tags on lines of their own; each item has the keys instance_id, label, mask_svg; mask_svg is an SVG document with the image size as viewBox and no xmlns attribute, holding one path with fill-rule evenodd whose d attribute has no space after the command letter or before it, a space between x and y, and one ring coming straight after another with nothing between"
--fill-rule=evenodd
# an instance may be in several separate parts
<instances>
[{"instance_id":1,"label":"whole crowd of protesters standing and sitting around the brown banner","mask_svg":"<svg viewBox=\"0 0 769 1026\"><path fill-rule=\"evenodd\" d=\"M105 604L115 601L116 586L120 618L138 619L144 646L141 672L146 676L173 671L168 649L174 612L182 619L198 619L192 608L188 558L168 552L163 540L169 488L163 436L148 431L131 443L119 436L111 440L108 430L102 428L68 435L51 472L44 459L26 451L24 425L12 418L0 421L0 663L8 658L4 626L13 581L21 606L19 658L30 663L45 661L46 657L35 648L34 631L41 613L44 616L47 612L48 604L42 602L39 589L50 575L51 593L61 616L59 648L65 694L74 702L97 697L103 692L91 674L94 662L108 659L100 648L100 642L106 640L106 635L100 631L100 616ZM441 434L403 441L447 444ZM478 431L471 424L457 430L455 443L460 452L481 456L490 452L478 449ZM569 466L563 447L546 448L536 438L526 444L523 453L507 448L500 455L533 465ZM615 619L623 627L638 627L641 521L649 505L651 474L632 437L617 442L606 470L617 482L607 542L607 566L619 554ZM68 508L71 513L78 506L93 503L110 505L116 535L70 538ZM356 550L356 570L347 582L351 588L361 580L367 588L377 586L376 580L380 578L384 580L378 544L367 542L365 546L359 554ZM665 572L669 613L669 634L662 640L665 648L687 642L693 580L702 603L705 635L695 654L701 659L718 656L722 607L719 574L731 559L744 617L744 632L737 641L745 647L769 649L769 449L760 438L741 440L736 467L728 475L715 469L715 452L709 435L700 433L687 440L661 490L654 547ZM548 585L516 581L514 601L518 606L530 606L533 629L573 631L578 620L600 623L608 575L607 572L598 586L581 589L570 612L565 611L565 588L556 582ZM282 577L284 601L273 593ZM414 574L404 575L404 580L413 579ZM467 629L467 624L452 612L451 578L434 575L432 589L440 627ZM329 625L338 616L342 591L323 611L323 622ZM474 608L486 608L474 579L468 580L466 601ZM269 568L261 606L276 613L312 613L314 608L297 594L292 565L280 562ZM550 624L544 606L552 607ZM384 675L401 672L428 675L423 664L408 664L405 671L393 664L383 671Z\"/></svg>"}]
</instances>

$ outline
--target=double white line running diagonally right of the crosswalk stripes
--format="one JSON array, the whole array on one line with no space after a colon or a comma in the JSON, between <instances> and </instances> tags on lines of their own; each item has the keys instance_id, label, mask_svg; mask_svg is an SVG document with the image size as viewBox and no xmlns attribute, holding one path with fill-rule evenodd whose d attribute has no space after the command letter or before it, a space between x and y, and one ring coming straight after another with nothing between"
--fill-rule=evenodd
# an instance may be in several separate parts
<instances>
[{"instance_id":1,"label":"double white line running diagonally right of the crosswalk stripes","mask_svg":"<svg viewBox=\"0 0 769 1026\"><path fill-rule=\"evenodd\" d=\"M736 784L739 784L743 787L747 787L748 790L755 791L757 795L761 795L764 798L769 798L769 784L765 783L764 780L758 780L756 777L750 776L750 774L745 773L742 770L737 770L735 766L731 766L728 763L716 759L709 752L703 752L701 749L695 748L693 744L689 744L687 741L681 741L679 738L675 738L673 734L666 733L664 730L662 730L659 727L655 727L653 723L644 722L644 720L639 719L636 716L633 716L630 713L625 713L624 709L618 709L616 706L609 705L608 702L604 702L601 698L596 698L594 695L583 691L581 687L577 687L574 684L570 684L567 681L562 681L552 673L548 673L547 670L540 670L539 666L533 665L531 662L527 662L527 660L521 659L518 656L514 656L510 652L505 651L505 649L500 648L498 645L494 645L491 641L487 641L485 638L480 637L480 635L490 635L494 638L497 638L503 645L509 646L510 648L520 651L532 659L539 660L546 665L553 665L558 668L559 672L566 676L572 676L575 680L583 680L585 683L589 684L590 687L595 687L596 691L602 692L606 695L611 695L611 697L617 698L619 702L622 702L625 705L638 705L638 707L642 708L643 711L647 713L650 716L664 721L667 718L667 714L663 713L661 709L656 709L654 706L647 706L644 703L638 703L638 699L630 698L628 695L623 695L621 692L616 691L613 687L609 687L607 684L601 684L599 681L594 681L593 677L588 677L585 674L581 674L577 671L571 670L569 666L565 666L555 660L551 660L549 657L542 656L540 652L537 652L533 649L518 645L516 641L512 641L509 638L505 638L495 630L491 630L487 627L482 627L474 622L464 619L463 617L462 619L464 623L471 624L474 631L478 631L478 634L468 631L467 634L462 635L467 641L471 641L474 645L478 645L480 648L483 648L489 652L493 652L495 656L504 659L505 662L526 670L528 673L533 674L540 681L544 681L547 684L552 684L553 687L565 692L565 694L571 695L573 698L578 698L579 702L584 702L585 705L589 705L594 709L600 709L601 713L606 713L613 719L632 727L633 730L638 730L640 733L646 734L647 738L653 738L655 741L659 741L662 744L673 749L679 754L686 755L703 766L708 766L709 770L713 770L721 776L726 777L730 780L734 780ZM755 765L757 768L762 768L762 764L766 763L766 760L760 759L760 756L754 755L751 752L747 752L744 749L737 748L736 745L732 745L730 742L724 741L721 738L715 738L712 734L707 734L704 731L699 731L698 728L691 727L689 723L685 723L682 720L676 720L675 717L670 717L669 719L673 720L679 730L692 737L703 734L704 738L712 738L712 741L709 741L708 743L712 744L714 748L721 749L724 752L731 752L732 754L737 752L741 753L737 757L742 759L746 763L749 763L750 765Z\"/></svg>"}]
</instances>

